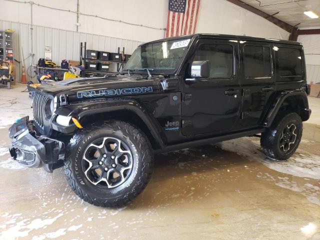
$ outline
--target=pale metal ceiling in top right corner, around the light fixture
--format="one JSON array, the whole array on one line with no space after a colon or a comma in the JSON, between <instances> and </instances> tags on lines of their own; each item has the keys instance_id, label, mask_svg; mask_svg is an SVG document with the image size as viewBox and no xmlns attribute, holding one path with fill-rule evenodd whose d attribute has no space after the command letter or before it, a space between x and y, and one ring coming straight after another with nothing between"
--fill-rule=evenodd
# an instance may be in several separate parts
<instances>
[{"instance_id":1,"label":"pale metal ceiling in top right corner, around the light fixture","mask_svg":"<svg viewBox=\"0 0 320 240\"><path fill-rule=\"evenodd\" d=\"M320 0L241 0L299 29L320 28L320 17L312 19L304 11L320 16ZM300 23L300 24L298 24ZM297 25L298 24L298 25Z\"/></svg>"}]
</instances>

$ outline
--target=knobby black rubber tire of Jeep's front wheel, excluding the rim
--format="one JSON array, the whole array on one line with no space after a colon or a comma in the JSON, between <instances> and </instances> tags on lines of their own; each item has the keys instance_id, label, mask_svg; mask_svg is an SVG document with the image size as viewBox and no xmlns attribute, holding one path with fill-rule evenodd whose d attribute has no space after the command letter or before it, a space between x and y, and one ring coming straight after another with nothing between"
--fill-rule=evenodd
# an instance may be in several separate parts
<instances>
[{"instance_id":1,"label":"knobby black rubber tire of Jeep's front wheel, excluding the rim","mask_svg":"<svg viewBox=\"0 0 320 240\"><path fill-rule=\"evenodd\" d=\"M129 146L133 156L132 172L121 185L101 189L91 184L82 171L80 161L85 148L94 139L112 136ZM131 201L146 186L153 166L153 154L147 137L130 123L110 120L79 129L66 147L64 173L72 190L84 201L104 207L117 207Z\"/></svg>"}]
</instances>

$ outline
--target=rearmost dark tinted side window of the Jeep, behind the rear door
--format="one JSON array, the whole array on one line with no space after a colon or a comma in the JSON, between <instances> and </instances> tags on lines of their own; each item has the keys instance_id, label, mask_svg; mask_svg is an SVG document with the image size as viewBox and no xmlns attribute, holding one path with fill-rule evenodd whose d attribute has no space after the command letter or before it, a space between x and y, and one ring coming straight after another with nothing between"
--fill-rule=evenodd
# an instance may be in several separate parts
<instances>
[{"instance_id":1,"label":"rearmost dark tinted side window of the Jeep, behind the rear door","mask_svg":"<svg viewBox=\"0 0 320 240\"><path fill-rule=\"evenodd\" d=\"M276 52L280 76L296 76L302 74L301 52L299 49L278 47Z\"/></svg>"}]
</instances>

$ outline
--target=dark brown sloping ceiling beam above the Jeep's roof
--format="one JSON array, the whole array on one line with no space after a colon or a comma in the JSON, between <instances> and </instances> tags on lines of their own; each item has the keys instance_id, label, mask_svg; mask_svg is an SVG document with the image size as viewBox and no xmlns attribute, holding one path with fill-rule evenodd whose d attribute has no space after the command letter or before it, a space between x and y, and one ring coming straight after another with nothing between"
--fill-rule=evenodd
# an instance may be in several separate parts
<instances>
[{"instance_id":1,"label":"dark brown sloping ceiling beam above the Jeep's roof","mask_svg":"<svg viewBox=\"0 0 320 240\"><path fill-rule=\"evenodd\" d=\"M280 19L274 17L273 15L270 15L270 14L267 14L265 13L264 11L261 11L259 10L258 8L255 8L243 1L240 1L240 0L227 0L229 2L232 2L233 4L237 5L237 6L240 6L248 11L251 11L265 19L267 19L268 21L272 22L273 24L281 27L282 29L286 30L287 32L290 32L292 33L293 30L297 30L296 27L294 26L291 26L290 24L284 22L284 21L281 21Z\"/></svg>"}]
</instances>

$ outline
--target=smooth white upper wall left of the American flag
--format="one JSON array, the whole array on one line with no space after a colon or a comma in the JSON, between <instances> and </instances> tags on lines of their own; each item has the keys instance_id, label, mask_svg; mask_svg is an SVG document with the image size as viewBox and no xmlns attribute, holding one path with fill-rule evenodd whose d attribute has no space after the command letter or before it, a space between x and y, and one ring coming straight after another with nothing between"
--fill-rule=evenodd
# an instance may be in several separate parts
<instances>
[{"instance_id":1,"label":"smooth white upper wall left of the American flag","mask_svg":"<svg viewBox=\"0 0 320 240\"><path fill-rule=\"evenodd\" d=\"M76 11L76 0L35 0L35 3ZM156 28L166 25L167 0L79 0L81 13L143 24ZM1 19L31 23L30 4L0 0ZM76 30L76 14L33 4L33 24L64 30ZM164 30L128 25L93 16L80 15L79 32L150 41L164 36Z\"/></svg>"}]
</instances>

